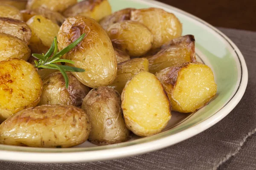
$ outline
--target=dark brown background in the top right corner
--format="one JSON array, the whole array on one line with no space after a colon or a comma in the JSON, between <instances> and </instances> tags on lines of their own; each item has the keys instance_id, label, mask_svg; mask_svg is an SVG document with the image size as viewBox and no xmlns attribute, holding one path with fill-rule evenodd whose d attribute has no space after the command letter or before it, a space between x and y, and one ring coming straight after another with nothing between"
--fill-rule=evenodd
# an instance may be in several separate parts
<instances>
[{"instance_id":1,"label":"dark brown background in the top right corner","mask_svg":"<svg viewBox=\"0 0 256 170\"><path fill-rule=\"evenodd\" d=\"M158 0L213 26L256 31L256 0Z\"/></svg>"}]
</instances>

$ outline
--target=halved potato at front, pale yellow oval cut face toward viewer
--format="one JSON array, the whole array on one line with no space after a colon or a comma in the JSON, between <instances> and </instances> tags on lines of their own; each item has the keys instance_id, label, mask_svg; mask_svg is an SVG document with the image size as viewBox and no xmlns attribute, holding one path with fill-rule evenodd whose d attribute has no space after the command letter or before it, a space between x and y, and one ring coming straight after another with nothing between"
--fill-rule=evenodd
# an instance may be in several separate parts
<instances>
[{"instance_id":1,"label":"halved potato at front, pale yellow oval cut face toward viewer","mask_svg":"<svg viewBox=\"0 0 256 170\"><path fill-rule=\"evenodd\" d=\"M171 105L160 81L146 71L136 74L122 92L125 124L138 136L163 130L171 119Z\"/></svg>"}]
</instances>

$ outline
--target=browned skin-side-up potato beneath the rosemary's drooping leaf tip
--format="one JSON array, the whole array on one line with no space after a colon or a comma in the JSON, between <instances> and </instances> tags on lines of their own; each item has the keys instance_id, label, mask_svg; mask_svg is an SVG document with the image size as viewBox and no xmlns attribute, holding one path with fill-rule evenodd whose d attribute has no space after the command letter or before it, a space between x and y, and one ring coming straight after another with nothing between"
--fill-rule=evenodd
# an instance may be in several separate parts
<instances>
[{"instance_id":1,"label":"browned skin-side-up potato beneath the rosemary's drooping leaf tip","mask_svg":"<svg viewBox=\"0 0 256 170\"><path fill-rule=\"evenodd\" d=\"M38 105L73 105L80 107L90 88L67 72L69 86L66 88L61 72L55 72L43 80L43 93Z\"/></svg>"}]
</instances>

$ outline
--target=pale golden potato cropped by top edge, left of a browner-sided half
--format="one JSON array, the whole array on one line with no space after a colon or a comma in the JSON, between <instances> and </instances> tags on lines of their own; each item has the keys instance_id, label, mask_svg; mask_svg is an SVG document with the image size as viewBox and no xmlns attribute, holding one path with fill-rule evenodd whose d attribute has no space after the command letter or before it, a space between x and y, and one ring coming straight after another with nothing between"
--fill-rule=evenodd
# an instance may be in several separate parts
<instances>
[{"instance_id":1,"label":"pale golden potato cropped by top edge, left of a browner-sided half","mask_svg":"<svg viewBox=\"0 0 256 170\"><path fill-rule=\"evenodd\" d=\"M48 8L52 11L62 13L68 7L77 3L77 0L28 0L27 9L36 9L41 6Z\"/></svg>"}]
</instances>

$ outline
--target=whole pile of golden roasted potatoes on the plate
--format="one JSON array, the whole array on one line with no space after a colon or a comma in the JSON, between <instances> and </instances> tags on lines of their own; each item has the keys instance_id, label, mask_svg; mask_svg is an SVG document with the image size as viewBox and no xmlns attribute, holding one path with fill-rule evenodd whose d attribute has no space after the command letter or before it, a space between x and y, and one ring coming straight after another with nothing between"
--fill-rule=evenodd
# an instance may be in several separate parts
<instances>
[{"instance_id":1,"label":"whole pile of golden roasted potatoes on the plate","mask_svg":"<svg viewBox=\"0 0 256 170\"><path fill-rule=\"evenodd\" d=\"M112 14L108 0L0 0L0 144L105 145L160 133L171 111L195 112L215 96L195 38L159 8ZM32 53L58 50L85 72L37 69Z\"/></svg>"}]
</instances>

